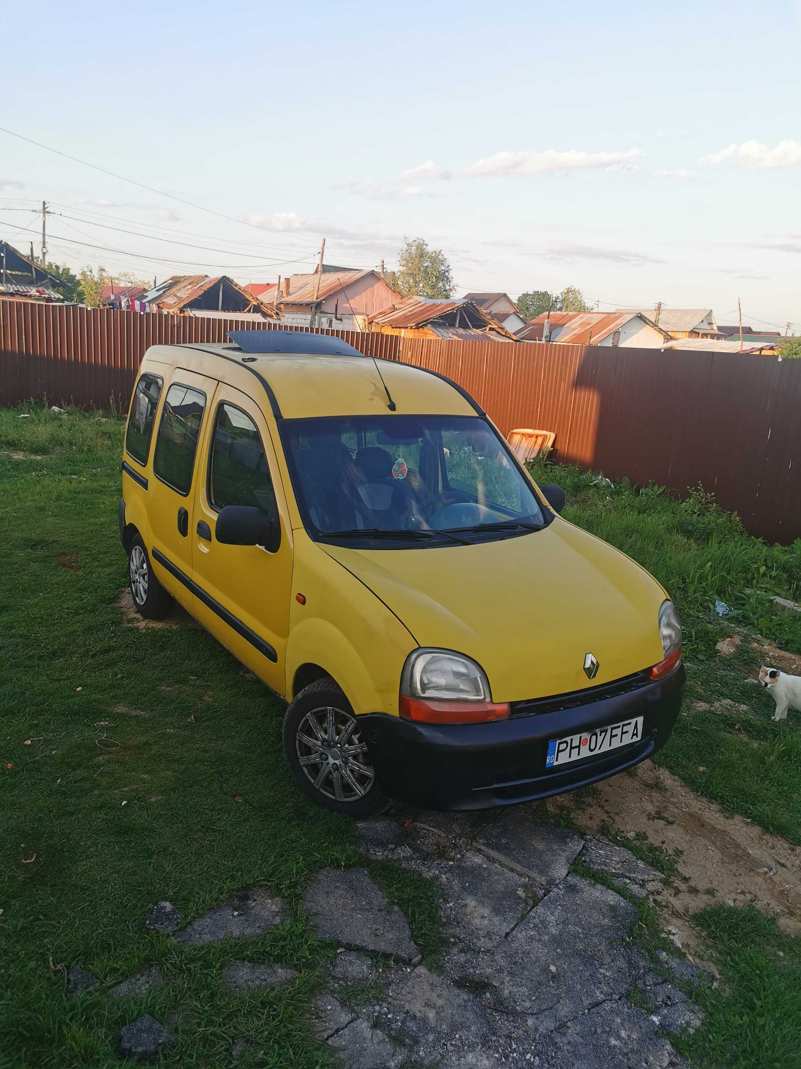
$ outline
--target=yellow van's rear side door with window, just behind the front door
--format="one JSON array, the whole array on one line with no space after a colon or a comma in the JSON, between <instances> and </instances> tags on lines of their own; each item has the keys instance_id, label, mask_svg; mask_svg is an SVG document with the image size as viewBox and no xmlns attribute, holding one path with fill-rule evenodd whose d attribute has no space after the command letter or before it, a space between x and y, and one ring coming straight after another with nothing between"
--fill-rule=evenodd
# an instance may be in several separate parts
<instances>
[{"instance_id":1,"label":"yellow van's rear side door with window, just behind the front door","mask_svg":"<svg viewBox=\"0 0 801 1069\"><path fill-rule=\"evenodd\" d=\"M151 540L147 551L159 582L190 610L192 531L195 483L203 479L198 459L217 382L175 368L166 386L161 419L153 450L153 489L147 503Z\"/></svg>"}]
</instances>

